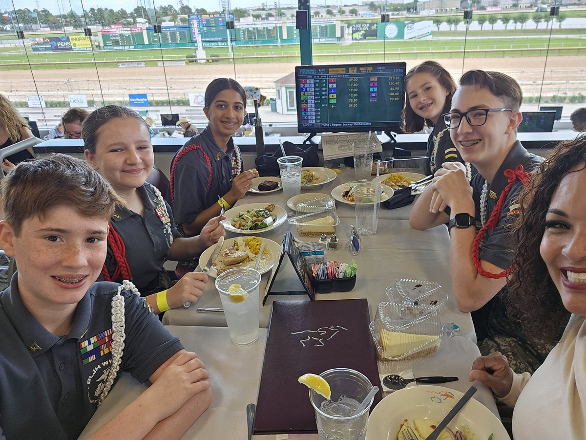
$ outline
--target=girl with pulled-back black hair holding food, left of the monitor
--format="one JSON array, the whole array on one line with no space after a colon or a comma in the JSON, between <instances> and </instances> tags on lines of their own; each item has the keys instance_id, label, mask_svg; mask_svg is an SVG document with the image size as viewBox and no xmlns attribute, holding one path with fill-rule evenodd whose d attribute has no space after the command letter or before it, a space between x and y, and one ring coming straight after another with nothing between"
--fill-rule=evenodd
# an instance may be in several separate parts
<instances>
[{"instance_id":1,"label":"girl with pulled-back black hair holding food, left of the monitor","mask_svg":"<svg viewBox=\"0 0 586 440\"><path fill-rule=\"evenodd\" d=\"M182 235L199 233L222 208L230 209L252 187L232 136L246 114L246 93L233 79L214 79L203 107L208 126L175 154L171 163L173 212Z\"/></svg>"}]
</instances>

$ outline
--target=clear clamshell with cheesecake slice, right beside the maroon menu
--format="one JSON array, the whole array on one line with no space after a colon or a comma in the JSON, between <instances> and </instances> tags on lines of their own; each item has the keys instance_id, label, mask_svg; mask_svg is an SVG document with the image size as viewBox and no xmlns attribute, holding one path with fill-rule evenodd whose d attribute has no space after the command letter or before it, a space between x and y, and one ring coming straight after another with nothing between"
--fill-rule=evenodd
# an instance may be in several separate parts
<instances>
[{"instance_id":1,"label":"clear clamshell with cheesecake slice, right beside the maroon menu","mask_svg":"<svg viewBox=\"0 0 586 440\"><path fill-rule=\"evenodd\" d=\"M436 310L387 302L377 307L370 330L383 361L433 356L445 334Z\"/></svg>"}]
</instances>

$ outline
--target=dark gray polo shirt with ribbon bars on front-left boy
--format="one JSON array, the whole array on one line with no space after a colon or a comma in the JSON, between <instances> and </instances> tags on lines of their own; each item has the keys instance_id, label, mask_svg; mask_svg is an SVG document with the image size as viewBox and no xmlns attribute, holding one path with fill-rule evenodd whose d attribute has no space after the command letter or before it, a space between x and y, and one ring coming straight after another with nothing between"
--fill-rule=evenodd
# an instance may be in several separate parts
<instances>
[{"instance_id":1,"label":"dark gray polo shirt with ribbon bars on front-left boy","mask_svg":"<svg viewBox=\"0 0 586 440\"><path fill-rule=\"evenodd\" d=\"M110 368L110 304L118 285L94 283L78 303L70 333L59 337L26 309L17 279L18 272L0 293L0 438L77 438L96 411ZM183 346L144 299L122 295L120 369L144 383Z\"/></svg>"}]
</instances>

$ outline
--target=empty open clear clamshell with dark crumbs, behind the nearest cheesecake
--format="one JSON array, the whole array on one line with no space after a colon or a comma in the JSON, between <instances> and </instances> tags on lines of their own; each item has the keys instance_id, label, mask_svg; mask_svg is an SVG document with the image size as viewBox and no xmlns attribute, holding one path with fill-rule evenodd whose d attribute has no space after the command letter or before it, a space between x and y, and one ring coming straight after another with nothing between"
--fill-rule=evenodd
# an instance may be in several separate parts
<instances>
[{"instance_id":1,"label":"empty open clear clamshell with dark crumbs, behind the nearest cheesecake","mask_svg":"<svg viewBox=\"0 0 586 440\"><path fill-rule=\"evenodd\" d=\"M401 278L386 289L391 303L425 306L440 310L448 301L448 294L438 283Z\"/></svg>"}]
</instances>

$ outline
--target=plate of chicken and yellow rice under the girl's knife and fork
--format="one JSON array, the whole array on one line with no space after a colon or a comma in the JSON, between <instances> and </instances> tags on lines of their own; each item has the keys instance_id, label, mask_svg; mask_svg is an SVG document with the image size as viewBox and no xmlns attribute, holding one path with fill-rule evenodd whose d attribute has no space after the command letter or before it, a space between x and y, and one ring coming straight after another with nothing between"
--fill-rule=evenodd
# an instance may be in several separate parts
<instances>
[{"instance_id":1,"label":"plate of chicken and yellow rice under the girl's knife and fork","mask_svg":"<svg viewBox=\"0 0 586 440\"><path fill-rule=\"evenodd\" d=\"M275 259L280 255L281 245L267 238L240 236L224 240L222 251L220 251L220 255L218 255L216 262L214 262L212 268L207 272L207 275L215 278L228 269L254 268L258 251L260 251L263 243L264 251L260 265L258 265L258 272L268 272L271 270L272 265L274 265ZM216 248L216 245L210 246L200 255L200 268L205 266L207 260L212 256L214 248Z\"/></svg>"}]
</instances>

